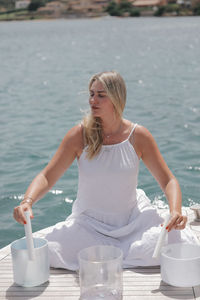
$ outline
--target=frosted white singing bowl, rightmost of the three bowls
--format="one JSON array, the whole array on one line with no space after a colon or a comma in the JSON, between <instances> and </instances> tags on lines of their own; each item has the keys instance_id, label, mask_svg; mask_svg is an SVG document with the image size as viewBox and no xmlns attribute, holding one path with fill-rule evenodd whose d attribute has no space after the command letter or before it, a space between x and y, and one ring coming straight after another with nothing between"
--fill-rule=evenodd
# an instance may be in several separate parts
<instances>
[{"instance_id":1,"label":"frosted white singing bowl, rightmost of the three bowls","mask_svg":"<svg viewBox=\"0 0 200 300\"><path fill-rule=\"evenodd\" d=\"M177 287L200 284L200 246L195 244L170 244L161 251L161 277Z\"/></svg>"}]
</instances>

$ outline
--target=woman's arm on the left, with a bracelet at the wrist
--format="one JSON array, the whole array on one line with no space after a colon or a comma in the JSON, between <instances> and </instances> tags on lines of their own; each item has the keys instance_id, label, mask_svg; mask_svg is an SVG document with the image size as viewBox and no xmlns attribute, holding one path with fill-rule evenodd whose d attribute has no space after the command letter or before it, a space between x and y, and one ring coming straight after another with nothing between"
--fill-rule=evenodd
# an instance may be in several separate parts
<instances>
[{"instance_id":1,"label":"woman's arm on the left, with a bracelet at the wrist","mask_svg":"<svg viewBox=\"0 0 200 300\"><path fill-rule=\"evenodd\" d=\"M24 211L29 210L33 218L32 205L41 199L70 167L83 149L82 127L77 125L70 129L62 140L55 155L48 165L33 179L24 200L14 208L13 216L21 224L26 222Z\"/></svg>"}]
</instances>

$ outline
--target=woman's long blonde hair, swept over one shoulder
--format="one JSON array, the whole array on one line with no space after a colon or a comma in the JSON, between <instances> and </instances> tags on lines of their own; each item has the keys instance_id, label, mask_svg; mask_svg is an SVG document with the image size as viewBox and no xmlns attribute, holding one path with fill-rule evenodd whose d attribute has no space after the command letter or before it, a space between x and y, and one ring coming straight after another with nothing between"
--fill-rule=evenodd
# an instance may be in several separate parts
<instances>
[{"instance_id":1,"label":"woman's long blonde hair, swept over one shoulder","mask_svg":"<svg viewBox=\"0 0 200 300\"><path fill-rule=\"evenodd\" d=\"M89 89L94 81L98 80L103 85L107 96L112 101L116 117L122 117L126 104L126 85L121 75L115 71L102 72L92 76ZM103 144L102 123L99 117L89 113L83 119L84 140L87 145L87 158L95 157Z\"/></svg>"}]
</instances>

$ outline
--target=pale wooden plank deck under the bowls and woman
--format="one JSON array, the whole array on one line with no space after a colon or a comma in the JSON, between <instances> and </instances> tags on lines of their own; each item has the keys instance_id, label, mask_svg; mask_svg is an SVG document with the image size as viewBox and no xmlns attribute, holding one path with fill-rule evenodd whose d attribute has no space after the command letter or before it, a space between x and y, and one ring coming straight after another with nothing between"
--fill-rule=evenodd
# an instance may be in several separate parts
<instances>
[{"instance_id":1,"label":"pale wooden plank deck under the bowls and woman","mask_svg":"<svg viewBox=\"0 0 200 300\"><path fill-rule=\"evenodd\" d=\"M194 221L192 210L186 209L188 226L200 238L200 223ZM135 268L123 271L123 300L200 299L200 285L176 288L161 280L159 268ZM0 250L0 299L78 300L79 283L76 272L50 270L49 282L34 288L23 288L13 283L10 246Z\"/></svg>"}]
</instances>

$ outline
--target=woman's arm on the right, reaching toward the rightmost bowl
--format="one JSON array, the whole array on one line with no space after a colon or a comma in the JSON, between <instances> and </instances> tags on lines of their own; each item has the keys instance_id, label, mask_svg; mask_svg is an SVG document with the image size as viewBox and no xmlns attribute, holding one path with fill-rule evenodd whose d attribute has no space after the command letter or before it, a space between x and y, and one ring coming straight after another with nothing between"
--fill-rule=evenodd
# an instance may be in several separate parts
<instances>
[{"instance_id":1,"label":"woman's arm on the right, reaching toward the rightmost bowl","mask_svg":"<svg viewBox=\"0 0 200 300\"><path fill-rule=\"evenodd\" d=\"M164 161L151 133L143 126L137 126L134 134L134 148L159 183L169 202L171 219L167 229L185 228L187 217L182 216L182 195L179 183Z\"/></svg>"}]
</instances>

